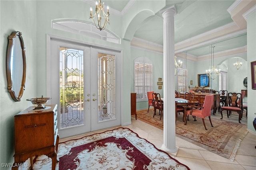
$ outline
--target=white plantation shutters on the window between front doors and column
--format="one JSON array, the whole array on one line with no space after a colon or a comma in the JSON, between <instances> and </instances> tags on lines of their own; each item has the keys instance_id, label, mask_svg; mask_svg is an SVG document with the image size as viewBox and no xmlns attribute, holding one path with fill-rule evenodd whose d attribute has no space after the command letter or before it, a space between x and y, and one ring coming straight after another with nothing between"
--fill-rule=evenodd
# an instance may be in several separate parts
<instances>
[{"instance_id":1,"label":"white plantation shutters on the window between front doors and column","mask_svg":"<svg viewBox=\"0 0 256 170\"><path fill-rule=\"evenodd\" d=\"M147 92L153 89L153 66L141 62L134 63L134 91L137 99L148 98Z\"/></svg>"}]
</instances>

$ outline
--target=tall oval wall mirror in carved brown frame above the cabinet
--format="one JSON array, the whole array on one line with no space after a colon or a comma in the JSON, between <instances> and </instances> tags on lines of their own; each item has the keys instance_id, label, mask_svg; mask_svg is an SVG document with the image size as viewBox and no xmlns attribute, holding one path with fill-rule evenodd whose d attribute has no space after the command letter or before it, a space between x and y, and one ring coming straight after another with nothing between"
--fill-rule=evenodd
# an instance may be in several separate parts
<instances>
[{"instance_id":1,"label":"tall oval wall mirror in carved brown frame above the cabinet","mask_svg":"<svg viewBox=\"0 0 256 170\"><path fill-rule=\"evenodd\" d=\"M9 36L8 39L9 39L9 42L8 42L7 55L6 55L6 74L7 74L7 84L8 84L7 89L8 89L8 92L10 93L12 99L14 101L16 101L16 102L19 102L21 97L22 97L22 94L23 94L23 92L25 90L26 51L25 51L25 47L24 47L23 38L21 36L21 32L19 32L19 31L12 32L12 34ZM19 41L21 56L12 56L13 55L13 51L14 51L15 41ZM17 49L17 48L19 48L19 47L15 47L15 49ZM14 90L16 90L16 89L13 89L13 85L14 85L13 81L15 81L15 80L12 80L12 72L13 72L13 69L15 69L15 67L12 64L14 63L14 60L17 57L22 57L22 63L20 63L20 64L23 64L22 65L23 72L20 73L22 75L18 75L18 76L22 76L22 79L21 79L21 82L20 82L21 86L20 86L20 91L18 92L18 96L16 96L16 94L14 92Z\"/></svg>"}]
</instances>

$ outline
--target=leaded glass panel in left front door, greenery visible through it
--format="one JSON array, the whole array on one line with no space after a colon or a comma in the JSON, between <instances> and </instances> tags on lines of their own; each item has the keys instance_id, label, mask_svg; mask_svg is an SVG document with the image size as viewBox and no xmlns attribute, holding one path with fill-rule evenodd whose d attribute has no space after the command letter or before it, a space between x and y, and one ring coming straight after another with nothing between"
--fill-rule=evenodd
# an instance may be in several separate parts
<instances>
[{"instance_id":1,"label":"leaded glass panel in left front door, greenery visible through it","mask_svg":"<svg viewBox=\"0 0 256 170\"><path fill-rule=\"evenodd\" d=\"M60 47L60 129L84 125L83 53Z\"/></svg>"}]
</instances>

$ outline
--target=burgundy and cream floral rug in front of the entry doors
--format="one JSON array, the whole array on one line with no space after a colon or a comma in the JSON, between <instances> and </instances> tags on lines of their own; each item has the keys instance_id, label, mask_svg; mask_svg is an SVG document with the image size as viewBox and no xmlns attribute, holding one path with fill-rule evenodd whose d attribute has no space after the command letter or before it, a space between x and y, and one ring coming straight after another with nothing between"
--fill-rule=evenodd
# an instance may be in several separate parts
<instances>
[{"instance_id":1,"label":"burgundy and cream floral rug in front of the entry doors","mask_svg":"<svg viewBox=\"0 0 256 170\"><path fill-rule=\"evenodd\" d=\"M60 143L56 170L189 170L166 152L128 128ZM51 159L37 158L33 169L51 168Z\"/></svg>"}]
</instances>

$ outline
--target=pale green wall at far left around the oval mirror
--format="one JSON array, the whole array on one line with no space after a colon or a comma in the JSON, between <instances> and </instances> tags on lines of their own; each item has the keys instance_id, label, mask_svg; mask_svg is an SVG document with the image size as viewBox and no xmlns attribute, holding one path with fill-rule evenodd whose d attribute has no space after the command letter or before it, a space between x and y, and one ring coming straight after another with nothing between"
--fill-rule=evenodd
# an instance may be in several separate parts
<instances>
[{"instance_id":1,"label":"pale green wall at far left around the oval mirror","mask_svg":"<svg viewBox=\"0 0 256 170\"><path fill-rule=\"evenodd\" d=\"M36 97L36 1L1 0L0 21L0 163L13 163L14 115L31 105L26 99ZM14 102L7 91L6 49L12 31L22 32L26 47L26 84L20 102Z\"/></svg>"}]
</instances>

